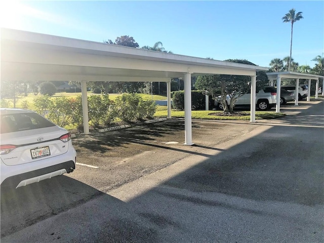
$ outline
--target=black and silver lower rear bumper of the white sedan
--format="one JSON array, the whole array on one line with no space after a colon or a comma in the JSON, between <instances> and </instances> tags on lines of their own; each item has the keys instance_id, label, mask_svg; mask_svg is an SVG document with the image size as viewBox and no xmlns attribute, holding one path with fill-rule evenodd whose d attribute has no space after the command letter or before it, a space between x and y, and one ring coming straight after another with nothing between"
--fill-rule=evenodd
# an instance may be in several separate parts
<instances>
[{"instance_id":1,"label":"black and silver lower rear bumper of the white sedan","mask_svg":"<svg viewBox=\"0 0 324 243\"><path fill-rule=\"evenodd\" d=\"M75 163L73 160L69 160L54 166L45 167L39 170L8 177L3 181L1 187L17 188L20 186L25 186L34 182L39 182L41 180L52 178L54 176L62 175L70 171L71 168L73 170L75 169Z\"/></svg>"}]
</instances>

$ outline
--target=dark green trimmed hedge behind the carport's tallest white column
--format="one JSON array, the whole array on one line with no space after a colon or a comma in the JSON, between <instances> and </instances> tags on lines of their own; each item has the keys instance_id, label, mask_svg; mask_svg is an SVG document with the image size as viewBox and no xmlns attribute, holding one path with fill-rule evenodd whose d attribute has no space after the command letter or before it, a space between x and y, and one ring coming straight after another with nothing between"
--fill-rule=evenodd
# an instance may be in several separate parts
<instances>
[{"instance_id":1,"label":"dark green trimmed hedge behind the carport's tallest white column","mask_svg":"<svg viewBox=\"0 0 324 243\"><path fill-rule=\"evenodd\" d=\"M209 104L213 102L209 98ZM205 110L206 97L201 91L191 91L191 109L192 110ZM176 91L173 94L172 108L177 110L184 110L184 91Z\"/></svg>"}]
</instances>

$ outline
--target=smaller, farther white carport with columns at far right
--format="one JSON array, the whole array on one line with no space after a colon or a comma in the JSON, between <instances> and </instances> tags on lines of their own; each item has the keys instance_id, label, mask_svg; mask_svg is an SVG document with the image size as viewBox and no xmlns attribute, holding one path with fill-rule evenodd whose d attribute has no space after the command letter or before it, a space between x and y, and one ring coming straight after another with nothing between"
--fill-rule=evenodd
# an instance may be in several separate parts
<instances>
[{"instance_id":1,"label":"smaller, farther white carport with columns at far right","mask_svg":"<svg viewBox=\"0 0 324 243\"><path fill-rule=\"evenodd\" d=\"M280 88L281 88L281 78L286 79L296 79L296 88L295 88L295 105L298 106L298 89L299 89L299 79L308 79L308 94L307 101L310 101L310 84L311 80L316 80L316 88L315 88L315 98L318 98L317 90L319 78L323 78L324 76L309 74L309 73L300 73L300 72L267 72L266 73L269 80L270 85L273 86L274 81L276 80L277 86L277 100L276 100L276 112L280 112Z\"/></svg>"}]
</instances>

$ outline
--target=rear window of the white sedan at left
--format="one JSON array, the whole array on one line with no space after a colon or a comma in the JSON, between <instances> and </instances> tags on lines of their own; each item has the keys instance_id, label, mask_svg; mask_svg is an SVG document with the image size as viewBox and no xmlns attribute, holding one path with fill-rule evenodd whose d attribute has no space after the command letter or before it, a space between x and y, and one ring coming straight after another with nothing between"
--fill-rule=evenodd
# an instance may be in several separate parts
<instances>
[{"instance_id":1,"label":"rear window of the white sedan at left","mask_svg":"<svg viewBox=\"0 0 324 243\"><path fill-rule=\"evenodd\" d=\"M2 134L56 126L36 113L3 114L0 119Z\"/></svg>"}]
</instances>

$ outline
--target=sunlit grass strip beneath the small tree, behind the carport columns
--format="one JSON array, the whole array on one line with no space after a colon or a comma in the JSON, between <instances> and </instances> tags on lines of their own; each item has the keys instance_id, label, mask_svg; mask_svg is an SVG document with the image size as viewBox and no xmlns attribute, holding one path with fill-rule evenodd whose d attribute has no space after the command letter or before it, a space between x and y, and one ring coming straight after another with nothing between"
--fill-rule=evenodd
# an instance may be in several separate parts
<instances>
[{"instance_id":1,"label":"sunlit grass strip beneath the small tree, behind the carport columns","mask_svg":"<svg viewBox=\"0 0 324 243\"><path fill-rule=\"evenodd\" d=\"M217 120L250 120L250 111L240 111L240 113L246 113L247 115L243 116L224 116L221 115L223 111L214 111L214 110L192 110L191 118L193 119L217 119ZM214 115L215 114L215 115ZM219 114L219 115L217 115ZM256 119L275 119L285 116L285 113L276 113L274 111L256 111ZM166 106L157 106L156 112L154 114L156 117L167 117L168 110ZM172 117L184 118L184 111L171 110Z\"/></svg>"}]
</instances>

